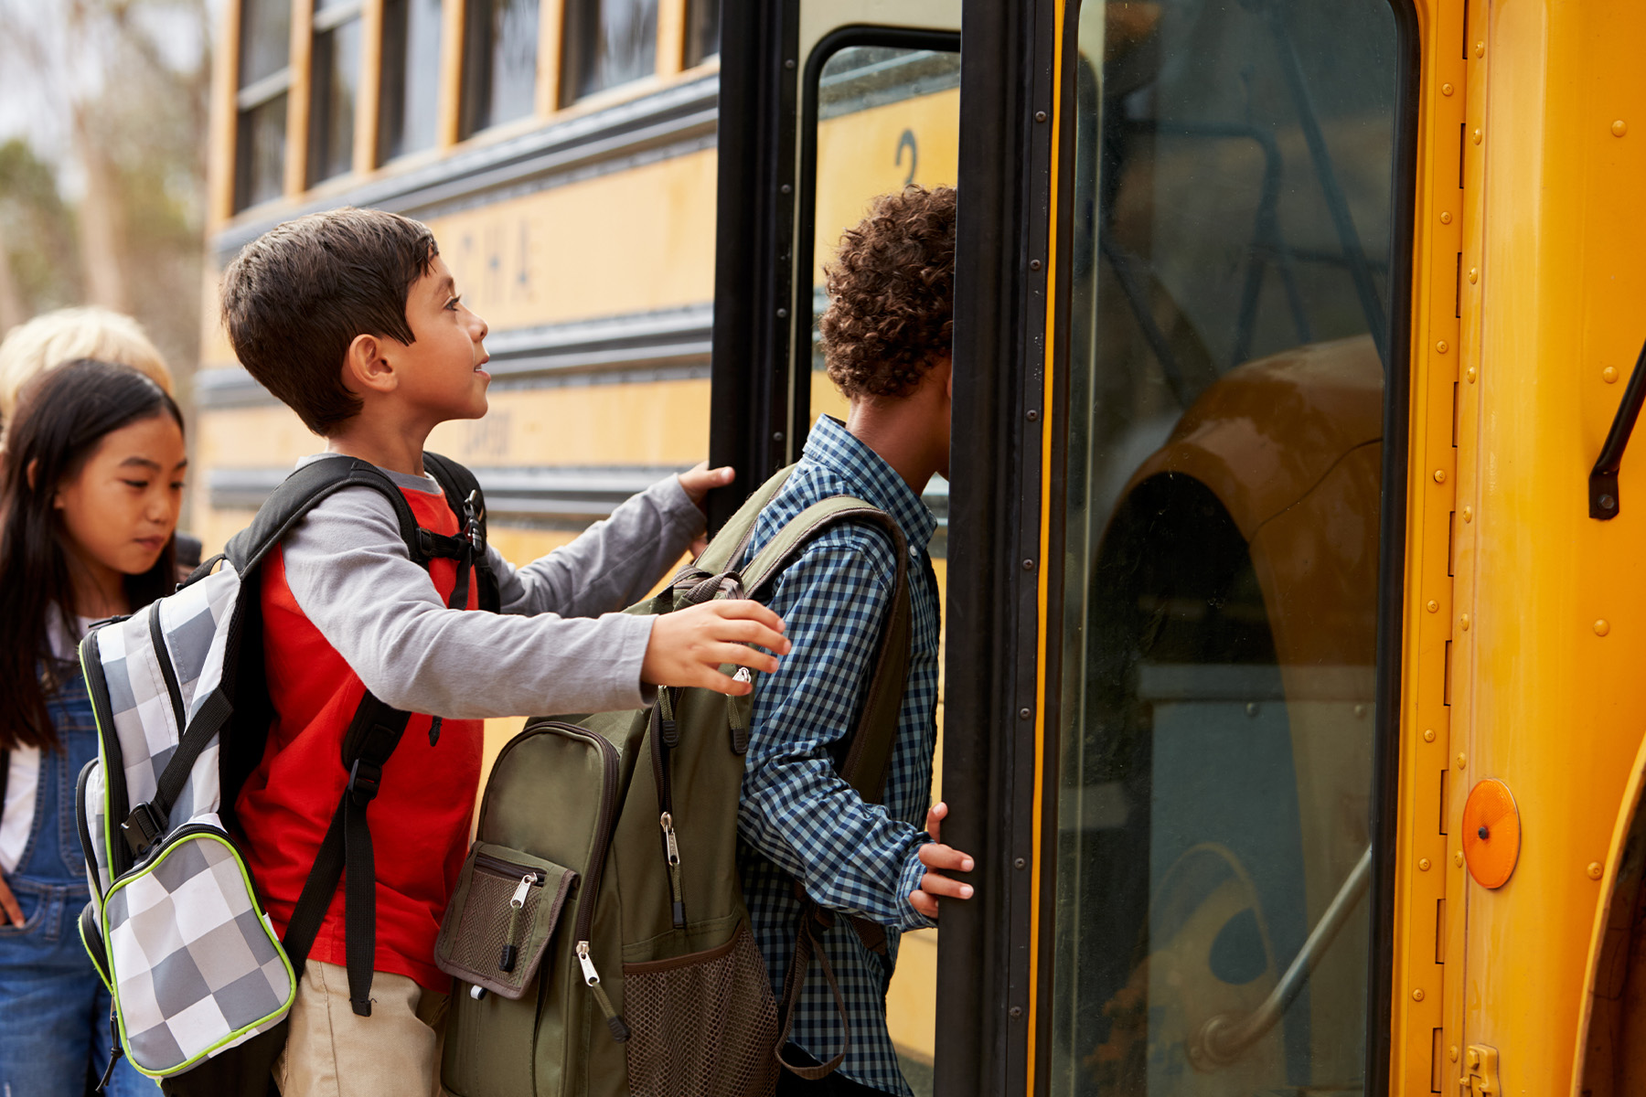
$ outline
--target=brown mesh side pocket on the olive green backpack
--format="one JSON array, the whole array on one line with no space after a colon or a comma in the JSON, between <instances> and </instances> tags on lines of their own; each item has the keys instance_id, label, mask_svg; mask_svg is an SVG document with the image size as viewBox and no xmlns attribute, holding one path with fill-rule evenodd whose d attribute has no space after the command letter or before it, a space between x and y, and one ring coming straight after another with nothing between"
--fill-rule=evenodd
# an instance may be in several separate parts
<instances>
[{"instance_id":1,"label":"brown mesh side pocket on the olive green backpack","mask_svg":"<svg viewBox=\"0 0 1646 1097\"><path fill-rule=\"evenodd\" d=\"M767 1097L777 1087L777 1003L749 924L672 960L624 964L634 1097Z\"/></svg>"}]
</instances>

